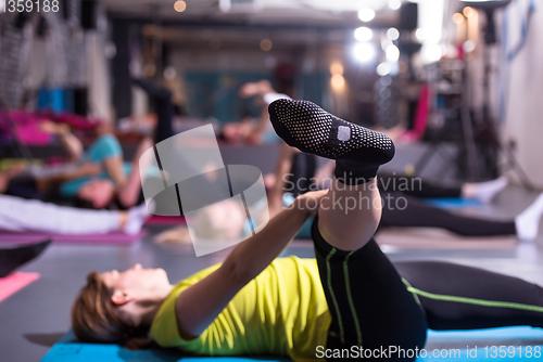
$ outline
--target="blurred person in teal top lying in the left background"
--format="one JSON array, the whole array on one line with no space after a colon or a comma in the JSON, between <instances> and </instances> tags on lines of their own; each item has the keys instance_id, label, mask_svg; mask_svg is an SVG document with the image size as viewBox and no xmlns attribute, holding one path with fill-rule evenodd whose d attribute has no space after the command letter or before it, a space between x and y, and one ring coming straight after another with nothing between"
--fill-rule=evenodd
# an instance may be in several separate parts
<instances>
[{"instance_id":1,"label":"blurred person in teal top lying in the left background","mask_svg":"<svg viewBox=\"0 0 543 362\"><path fill-rule=\"evenodd\" d=\"M99 127L98 139L87 151L67 125L45 121L41 128L58 135L67 153L66 165L0 173L0 193L42 201L73 201L76 207L94 209L112 204L126 209L142 202L139 157L153 146L150 139L144 138L132 161L125 163L123 148L108 125ZM157 170L149 172L157 173Z\"/></svg>"}]
</instances>

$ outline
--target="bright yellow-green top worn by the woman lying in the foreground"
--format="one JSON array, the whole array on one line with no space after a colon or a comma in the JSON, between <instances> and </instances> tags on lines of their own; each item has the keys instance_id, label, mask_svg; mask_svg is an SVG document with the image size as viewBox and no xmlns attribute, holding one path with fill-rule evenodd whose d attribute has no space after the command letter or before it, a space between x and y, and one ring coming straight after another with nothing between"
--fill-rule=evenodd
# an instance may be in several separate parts
<instances>
[{"instance_id":1,"label":"bright yellow-green top worn by the woman lying in the foreground","mask_svg":"<svg viewBox=\"0 0 543 362\"><path fill-rule=\"evenodd\" d=\"M184 340L177 329L179 294L219 264L179 282L151 325L151 338L195 355L273 354L314 361L326 346L330 314L315 259L276 259L245 285L215 321L195 339ZM213 295L210 295L213 298Z\"/></svg>"}]
</instances>

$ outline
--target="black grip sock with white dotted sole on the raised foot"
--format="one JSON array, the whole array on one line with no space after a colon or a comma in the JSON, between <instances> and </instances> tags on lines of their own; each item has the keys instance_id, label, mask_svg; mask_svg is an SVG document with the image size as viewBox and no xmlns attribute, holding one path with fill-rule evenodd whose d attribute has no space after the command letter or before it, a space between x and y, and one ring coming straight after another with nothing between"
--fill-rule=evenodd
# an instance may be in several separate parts
<instances>
[{"instance_id":1,"label":"black grip sock with white dotted sole on the raised foot","mask_svg":"<svg viewBox=\"0 0 543 362\"><path fill-rule=\"evenodd\" d=\"M344 184L372 180L380 165L394 157L386 134L351 124L308 101L277 100L269 104L277 134L302 152L336 159L336 178Z\"/></svg>"}]
</instances>

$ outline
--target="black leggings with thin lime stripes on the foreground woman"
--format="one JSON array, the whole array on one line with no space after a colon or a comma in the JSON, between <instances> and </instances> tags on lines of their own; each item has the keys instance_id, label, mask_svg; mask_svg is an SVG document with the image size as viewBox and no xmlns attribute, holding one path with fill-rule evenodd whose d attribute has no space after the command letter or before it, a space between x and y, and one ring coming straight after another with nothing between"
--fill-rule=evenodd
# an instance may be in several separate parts
<instances>
[{"instance_id":1,"label":"black leggings with thin lime stripes on the foreground woman","mask_svg":"<svg viewBox=\"0 0 543 362\"><path fill-rule=\"evenodd\" d=\"M312 228L332 318L327 348L421 349L427 329L543 327L543 288L516 277L435 261L392 263L374 240L354 251L329 245ZM415 361L415 355L387 355Z\"/></svg>"}]
</instances>

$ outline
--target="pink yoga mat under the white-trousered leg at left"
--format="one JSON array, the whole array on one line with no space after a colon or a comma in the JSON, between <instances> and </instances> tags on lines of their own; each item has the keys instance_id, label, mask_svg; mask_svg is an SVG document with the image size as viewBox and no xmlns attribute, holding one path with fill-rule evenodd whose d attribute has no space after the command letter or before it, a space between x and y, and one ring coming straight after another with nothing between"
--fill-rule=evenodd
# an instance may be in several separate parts
<instances>
[{"instance_id":1,"label":"pink yoga mat under the white-trousered leg at left","mask_svg":"<svg viewBox=\"0 0 543 362\"><path fill-rule=\"evenodd\" d=\"M17 233L0 231L0 243L10 242L38 242L42 240L50 238L55 243L65 244L115 244L115 245L129 245L140 237L147 235L146 230L141 230L139 233L129 235L121 232L108 233L108 234L87 234L87 235L59 235L59 234L47 234L47 233Z\"/></svg>"}]
</instances>

